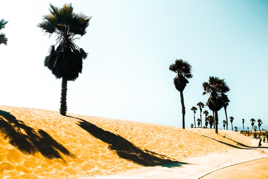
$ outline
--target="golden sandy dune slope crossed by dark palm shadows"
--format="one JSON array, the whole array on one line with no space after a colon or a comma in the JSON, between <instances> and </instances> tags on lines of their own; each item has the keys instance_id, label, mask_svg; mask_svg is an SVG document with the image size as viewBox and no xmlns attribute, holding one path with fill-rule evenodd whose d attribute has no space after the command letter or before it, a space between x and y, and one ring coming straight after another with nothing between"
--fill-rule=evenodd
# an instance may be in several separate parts
<instances>
[{"instance_id":1,"label":"golden sandy dune slope crossed by dark palm shadows","mask_svg":"<svg viewBox=\"0 0 268 179\"><path fill-rule=\"evenodd\" d=\"M237 143L238 142L238 143ZM0 178L82 179L180 168L255 145L237 132L0 106ZM249 150L248 150L249 151ZM204 158L205 159L205 158ZM146 166L146 167L144 167ZM159 168L159 167L158 167Z\"/></svg>"}]
</instances>

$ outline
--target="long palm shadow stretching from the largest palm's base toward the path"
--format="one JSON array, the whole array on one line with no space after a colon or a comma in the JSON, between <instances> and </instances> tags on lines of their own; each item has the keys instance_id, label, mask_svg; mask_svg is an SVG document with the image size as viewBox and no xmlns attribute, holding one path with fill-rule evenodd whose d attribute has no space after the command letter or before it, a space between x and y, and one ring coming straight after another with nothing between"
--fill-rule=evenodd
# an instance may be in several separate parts
<instances>
[{"instance_id":1,"label":"long palm shadow stretching from the largest palm's base toward the path","mask_svg":"<svg viewBox=\"0 0 268 179\"><path fill-rule=\"evenodd\" d=\"M71 117L71 116L68 116ZM71 117L74 118L74 117ZM79 118L75 118L79 119ZM174 159L170 159L164 155L154 153L149 150L142 150L136 147L133 143L127 139L122 138L119 135L115 135L110 131L105 131L95 124L92 124L86 120L79 119L77 125L86 130L92 136L100 139L109 144L109 149L115 151L117 155L122 159L133 161L143 166L163 166L163 167L179 167L182 164L188 164L185 162L178 162Z\"/></svg>"}]
</instances>

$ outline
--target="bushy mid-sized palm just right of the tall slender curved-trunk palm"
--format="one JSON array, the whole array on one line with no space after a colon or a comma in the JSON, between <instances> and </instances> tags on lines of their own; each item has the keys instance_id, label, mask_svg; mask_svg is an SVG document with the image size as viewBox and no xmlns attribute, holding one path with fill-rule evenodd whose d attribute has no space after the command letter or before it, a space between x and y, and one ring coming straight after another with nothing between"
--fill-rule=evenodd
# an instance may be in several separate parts
<instances>
[{"instance_id":1,"label":"bushy mid-sized palm just right of the tall slender curved-trunk palm","mask_svg":"<svg viewBox=\"0 0 268 179\"><path fill-rule=\"evenodd\" d=\"M218 77L210 77L209 82L203 82L203 88L205 94L210 94L210 97L206 103L211 111L215 112L215 132L218 134L218 111L223 107L222 95L225 95L230 91L225 80L221 80Z\"/></svg>"}]
</instances>

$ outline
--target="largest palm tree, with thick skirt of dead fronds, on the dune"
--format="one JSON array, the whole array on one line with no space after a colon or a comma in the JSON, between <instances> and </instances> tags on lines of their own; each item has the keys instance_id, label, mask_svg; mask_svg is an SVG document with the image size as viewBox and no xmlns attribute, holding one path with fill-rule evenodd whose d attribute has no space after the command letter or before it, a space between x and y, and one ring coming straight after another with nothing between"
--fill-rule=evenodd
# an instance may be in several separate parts
<instances>
[{"instance_id":1,"label":"largest palm tree, with thick skirt of dead fronds, on the dune","mask_svg":"<svg viewBox=\"0 0 268 179\"><path fill-rule=\"evenodd\" d=\"M52 45L49 55L45 57L44 65L56 79L62 78L60 114L65 116L67 111L67 81L74 81L82 73L83 61L87 58L87 53L75 44L78 36L86 34L91 17L82 13L75 14L72 4L64 4L62 7L55 7L50 3L50 14L43 16L38 27L49 37L55 33L57 36L57 48Z\"/></svg>"}]
</instances>

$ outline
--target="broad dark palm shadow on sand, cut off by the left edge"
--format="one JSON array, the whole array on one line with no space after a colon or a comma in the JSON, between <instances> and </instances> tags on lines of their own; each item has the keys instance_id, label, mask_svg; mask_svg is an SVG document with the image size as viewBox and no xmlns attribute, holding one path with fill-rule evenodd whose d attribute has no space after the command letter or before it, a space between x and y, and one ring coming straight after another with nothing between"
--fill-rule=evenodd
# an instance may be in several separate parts
<instances>
[{"instance_id":1,"label":"broad dark palm shadow on sand, cut off by the left edge","mask_svg":"<svg viewBox=\"0 0 268 179\"><path fill-rule=\"evenodd\" d=\"M8 112L0 110L0 132L4 139L17 147L25 155L34 155L40 152L47 159L62 159L62 154L76 158L63 145L53 139L48 133L41 129L33 129ZM26 134L25 134L26 133Z\"/></svg>"}]
</instances>

